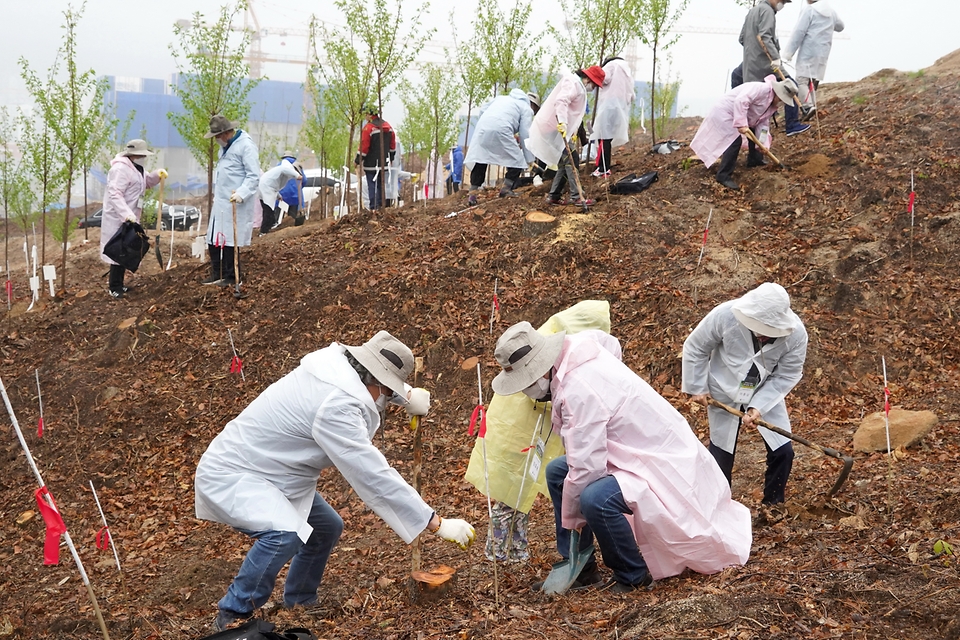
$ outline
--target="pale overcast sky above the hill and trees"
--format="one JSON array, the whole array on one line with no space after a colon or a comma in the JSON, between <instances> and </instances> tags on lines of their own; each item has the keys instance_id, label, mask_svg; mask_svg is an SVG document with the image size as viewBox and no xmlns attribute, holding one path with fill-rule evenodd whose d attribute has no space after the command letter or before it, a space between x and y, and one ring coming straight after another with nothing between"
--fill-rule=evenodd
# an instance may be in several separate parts
<instances>
[{"instance_id":1,"label":"pale overcast sky above the hill and trees","mask_svg":"<svg viewBox=\"0 0 960 640\"><path fill-rule=\"evenodd\" d=\"M494 1L494 0L486 0ZM498 0L512 6L512 0ZM830 0L846 23L842 38L834 41L827 68L826 82L858 80L885 67L904 71L933 64L937 58L960 48L957 27L960 6L930 0L903 2L894 0ZM173 41L172 25L200 11L207 16L217 13L225 0L89 0L79 28L79 63L99 74L126 77L169 78L175 72L169 45ZM76 4L76 3L75 3ZM405 5L419 6L410 0ZM427 22L437 28L435 40L452 42L449 8L454 3L435 2ZM46 0L38 4L5 0L3 7L4 36L0 38L0 104L28 102L20 79L17 60L29 61L39 72L53 62L62 37L62 12L65 0ZM253 0L261 29L271 33L264 39L264 52L280 57L302 57L306 40L294 33L305 30L310 14L342 23L331 0ZM456 3L458 35L469 35L471 0ZM556 0L535 0L533 24L542 25L562 17ZM800 12L800 3L793 2L778 15L781 44L786 46L785 33L792 28ZM674 47L673 73L682 82L680 104L685 115L704 115L710 105L728 86L729 71L741 58L737 35L743 24L745 9L733 0L690 0L681 24L689 27ZM559 26L559 24L558 24ZM291 31L280 35L283 29ZM725 33L698 33L705 29ZM272 35L276 34L276 35ZM439 54L440 46L431 47ZM650 75L649 52L637 50L637 79ZM302 81L304 67L294 64L269 64L266 75L274 80ZM414 82L416 82L414 80ZM384 114L388 120L400 122L402 111L393 101Z\"/></svg>"}]
</instances>

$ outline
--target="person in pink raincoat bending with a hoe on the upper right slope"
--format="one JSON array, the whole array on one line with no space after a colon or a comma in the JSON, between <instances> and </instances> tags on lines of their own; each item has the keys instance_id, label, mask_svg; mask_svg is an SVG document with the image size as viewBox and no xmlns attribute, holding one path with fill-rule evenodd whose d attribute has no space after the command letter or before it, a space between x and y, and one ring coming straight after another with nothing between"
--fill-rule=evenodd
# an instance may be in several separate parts
<instances>
[{"instance_id":1,"label":"person in pink raincoat bending with a hoe on the upper right slope","mask_svg":"<svg viewBox=\"0 0 960 640\"><path fill-rule=\"evenodd\" d=\"M742 144L740 136L746 135L748 129L756 135L759 129L769 127L780 102L791 102L797 91L797 83L791 78L777 82L769 75L763 82L744 82L714 105L697 129L690 148L708 167L720 158L717 182L728 189L740 189L733 181ZM747 158L748 167L762 164L763 156Z\"/></svg>"}]
</instances>

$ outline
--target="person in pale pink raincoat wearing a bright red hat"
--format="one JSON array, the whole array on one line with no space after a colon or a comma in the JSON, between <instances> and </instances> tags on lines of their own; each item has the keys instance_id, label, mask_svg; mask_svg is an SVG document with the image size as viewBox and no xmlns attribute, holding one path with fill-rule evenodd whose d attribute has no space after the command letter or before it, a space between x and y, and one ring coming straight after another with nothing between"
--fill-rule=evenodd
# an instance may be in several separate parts
<instances>
[{"instance_id":1,"label":"person in pale pink raincoat wearing a bright red hat","mask_svg":"<svg viewBox=\"0 0 960 640\"><path fill-rule=\"evenodd\" d=\"M587 110L587 94L603 84L603 69L598 66L579 69L565 74L553 88L533 119L527 148L546 166L556 165L557 175L547 193L547 204L565 204L561 196L564 181L570 187L570 203L591 205L577 189L574 179L575 162L567 151L567 145L583 123ZM566 141L566 142L565 142Z\"/></svg>"}]
</instances>

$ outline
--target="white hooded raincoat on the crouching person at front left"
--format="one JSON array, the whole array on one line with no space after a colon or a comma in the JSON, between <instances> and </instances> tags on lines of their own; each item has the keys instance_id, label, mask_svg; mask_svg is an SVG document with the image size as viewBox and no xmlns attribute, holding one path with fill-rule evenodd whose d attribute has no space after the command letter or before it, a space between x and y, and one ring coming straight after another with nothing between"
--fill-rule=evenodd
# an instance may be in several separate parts
<instances>
[{"instance_id":1,"label":"white hooded raincoat on the crouching person at front left","mask_svg":"<svg viewBox=\"0 0 960 640\"><path fill-rule=\"evenodd\" d=\"M373 445L380 414L333 343L270 385L200 458L197 517L248 531L313 531L320 472L337 467L360 499L410 543L433 515Z\"/></svg>"}]
</instances>

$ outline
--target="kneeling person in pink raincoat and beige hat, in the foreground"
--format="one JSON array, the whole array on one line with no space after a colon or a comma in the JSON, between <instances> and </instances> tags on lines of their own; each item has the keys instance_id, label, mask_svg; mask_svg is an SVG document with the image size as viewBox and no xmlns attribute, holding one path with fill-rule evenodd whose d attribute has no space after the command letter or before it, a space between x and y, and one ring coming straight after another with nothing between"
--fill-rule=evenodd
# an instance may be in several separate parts
<instances>
[{"instance_id":1,"label":"kneeling person in pink raincoat and beige hat, in the foreground","mask_svg":"<svg viewBox=\"0 0 960 640\"><path fill-rule=\"evenodd\" d=\"M685 568L716 573L747 561L750 511L731 499L683 416L621 362L616 338L596 330L544 336L521 322L500 337L494 357L503 367L496 393L553 403L566 455L547 465L546 481L561 556L571 530L580 530L581 549L596 538L613 571L601 588L614 593ZM600 582L591 559L574 584Z\"/></svg>"}]
</instances>

